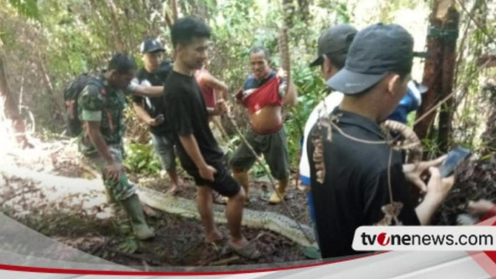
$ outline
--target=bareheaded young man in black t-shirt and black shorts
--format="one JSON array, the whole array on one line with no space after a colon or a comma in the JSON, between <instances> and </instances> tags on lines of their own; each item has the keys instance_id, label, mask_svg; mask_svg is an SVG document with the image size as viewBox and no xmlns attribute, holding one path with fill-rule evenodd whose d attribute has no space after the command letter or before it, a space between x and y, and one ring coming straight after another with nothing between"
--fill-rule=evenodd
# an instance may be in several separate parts
<instances>
[{"instance_id":1,"label":"bareheaded young man in black t-shirt and black shorts","mask_svg":"<svg viewBox=\"0 0 496 279\"><path fill-rule=\"evenodd\" d=\"M210 29L199 20L185 17L176 21L171 37L176 61L165 83L166 119L175 133L181 164L198 186L196 202L205 226L205 242L223 238L214 223L212 190L215 190L229 197L226 217L231 248L241 256L257 258L260 253L255 244L241 233L245 192L224 165L223 152L208 126L209 115L225 113L227 108L219 100L215 108L207 109L193 75L207 60Z\"/></svg>"}]
</instances>

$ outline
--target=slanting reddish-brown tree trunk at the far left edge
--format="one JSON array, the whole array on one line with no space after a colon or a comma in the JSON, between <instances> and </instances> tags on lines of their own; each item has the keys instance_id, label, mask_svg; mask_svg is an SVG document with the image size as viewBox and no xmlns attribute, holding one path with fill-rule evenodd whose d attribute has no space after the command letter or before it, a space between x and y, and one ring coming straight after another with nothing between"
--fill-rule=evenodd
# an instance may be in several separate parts
<instances>
[{"instance_id":1,"label":"slanting reddish-brown tree trunk at the far left edge","mask_svg":"<svg viewBox=\"0 0 496 279\"><path fill-rule=\"evenodd\" d=\"M22 148L32 147L26 138L26 126L19 113L16 97L8 86L6 72L3 57L0 57L0 97L4 100L3 113L6 118L12 121L12 128L16 134L15 139ZM4 135L2 135L2 137L4 137Z\"/></svg>"}]
</instances>

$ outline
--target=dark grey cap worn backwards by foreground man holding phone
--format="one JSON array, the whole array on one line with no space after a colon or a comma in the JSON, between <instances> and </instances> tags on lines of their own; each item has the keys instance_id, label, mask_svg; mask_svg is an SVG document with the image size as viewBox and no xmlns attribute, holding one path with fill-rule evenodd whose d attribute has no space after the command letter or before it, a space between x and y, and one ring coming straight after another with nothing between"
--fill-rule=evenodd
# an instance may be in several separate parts
<instances>
[{"instance_id":1,"label":"dark grey cap worn backwards by foreground man holding phone","mask_svg":"<svg viewBox=\"0 0 496 279\"><path fill-rule=\"evenodd\" d=\"M326 84L344 94L358 94L390 72L410 72L412 65L412 35L399 25L378 23L358 32L345 67Z\"/></svg>"}]
</instances>

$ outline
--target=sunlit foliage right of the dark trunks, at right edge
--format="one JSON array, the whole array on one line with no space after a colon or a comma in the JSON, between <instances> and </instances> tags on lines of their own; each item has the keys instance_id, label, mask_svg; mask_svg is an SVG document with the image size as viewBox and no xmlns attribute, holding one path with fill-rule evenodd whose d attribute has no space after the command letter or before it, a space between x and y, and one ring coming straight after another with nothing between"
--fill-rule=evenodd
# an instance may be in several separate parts
<instances>
[{"instance_id":1,"label":"sunlit foliage right of the dark trunks, at right edge","mask_svg":"<svg viewBox=\"0 0 496 279\"><path fill-rule=\"evenodd\" d=\"M471 149L484 149L485 143L480 137L483 130L481 128L486 124L487 113L491 111L494 103L488 96L483 96L486 82L484 77L490 77L492 74L479 71L478 60L484 52L496 47L496 43L491 43L486 35L489 33L494 38L496 34L496 28L491 27L489 21L491 14L494 20L494 5L492 10L488 4L489 2L484 0L470 2L470 5L465 3L478 24L468 16L462 17L460 21L453 90L455 87L461 88L458 88L455 95L451 146L461 144ZM486 30L483 31L480 26L485 26Z\"/></svg>"}]
</instances>

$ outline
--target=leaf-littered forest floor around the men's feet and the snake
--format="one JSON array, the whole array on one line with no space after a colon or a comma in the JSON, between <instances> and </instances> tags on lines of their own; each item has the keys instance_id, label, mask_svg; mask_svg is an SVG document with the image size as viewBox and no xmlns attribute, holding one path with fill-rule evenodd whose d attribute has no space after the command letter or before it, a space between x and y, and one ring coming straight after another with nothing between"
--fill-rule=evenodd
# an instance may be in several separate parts
<instances>
[{"instance_id":1,"label":"leaf-littered forest floor around the men's feet and the snake","mask_svg":"<svg viewBox=\"0 0 496 279\"><path fill-rule=\"evenodd\" d=\"M67 147L71 146L67 142L38 145L42 147L37 147L37 151L19 153L10 150L3 156L4 166L10 167L0 170L0 210L66 245L117 264L143 270L156 266L273 265L307 259L302 248L293 241L275 232L244 227L246 237L254 240L262 252L261 258L247 260L234 254L227 240L215 247L206 245L199 221L146 206L147 221L155 230L156 237L150 241L137 241L132 236L123 210L105 203L103 189L91 188L81 194L77 184L85 178L91 179L92 175L77 163L74 146ZM29 178L37 174L66 179L65 186L70 188L67 191L74 193L63 198L49 197L57 195L57 191L55 188L52 192L46 192L46 189L40 191L40 183ZM50 181L50 177L41 179ZM168 190L167 179L137 176L131 179L164 193ZM192 181L187 177L183 177L183 180L185 188L179 196L194 199ZM247 208L289 215L282 204L268 205L271 189L263 178L252 181L251 190L251 201ZM287 204L296 219L310 225L306 194L297 190L294 183L290 186ZM225 224L220 224L219 229L228 235Z\"/></svg>"}]
</instances>

